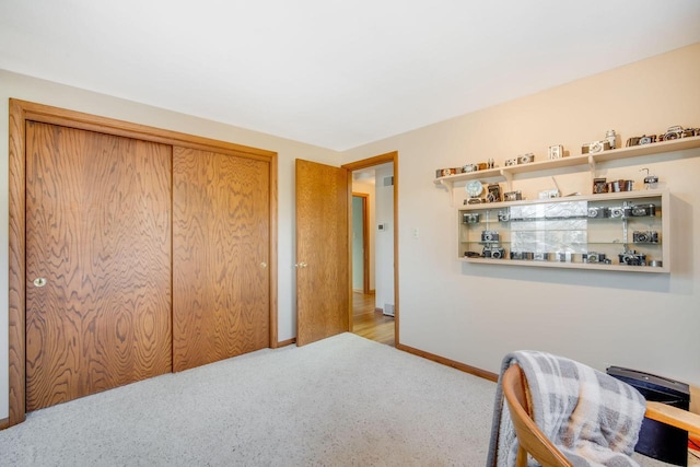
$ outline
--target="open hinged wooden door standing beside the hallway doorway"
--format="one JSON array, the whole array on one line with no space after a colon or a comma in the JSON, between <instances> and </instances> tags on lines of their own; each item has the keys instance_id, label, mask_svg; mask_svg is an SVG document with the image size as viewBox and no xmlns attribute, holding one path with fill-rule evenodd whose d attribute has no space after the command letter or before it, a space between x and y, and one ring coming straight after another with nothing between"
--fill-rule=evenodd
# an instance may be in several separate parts
<instances>
[{"instance_id":1,"label":"open hinged wooden door standing beside the hallway doorway","mask_svg":"<svg viewBox=\"0 0 700 467\"><path fill-rule=\"evenodd\" d=\"M348 172L296 160L296 345L349 330Z\"/></svg>"}]
</instances>

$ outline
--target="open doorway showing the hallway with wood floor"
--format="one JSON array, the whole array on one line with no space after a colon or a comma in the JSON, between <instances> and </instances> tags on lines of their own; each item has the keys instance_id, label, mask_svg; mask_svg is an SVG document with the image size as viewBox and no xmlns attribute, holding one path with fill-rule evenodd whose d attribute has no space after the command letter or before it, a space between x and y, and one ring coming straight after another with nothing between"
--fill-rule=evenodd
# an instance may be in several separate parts
<instances>
[{"instance_id":1,"label":"open doorway showing the hallway with wood floor","mask_svg":"<svg viewBox=\"0 0 700 467\"><path fill-rule=\"evenodd\" d=\"M355 164L363 162L368 165L348 166L352 173L350 330L396 346L395 163L373 157Z\"/></svg>"}]
</instances>

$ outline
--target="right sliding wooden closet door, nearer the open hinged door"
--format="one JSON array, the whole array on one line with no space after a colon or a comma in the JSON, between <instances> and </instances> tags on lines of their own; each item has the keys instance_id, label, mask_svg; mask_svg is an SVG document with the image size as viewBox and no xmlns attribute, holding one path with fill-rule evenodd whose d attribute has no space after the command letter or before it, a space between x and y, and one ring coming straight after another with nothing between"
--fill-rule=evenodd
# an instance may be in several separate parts
<instances>
[{"instance_id":1,"label":"right sliding wooden closet door, nearer the open hinged door","mask_svg":"<svg viewBox=\"0 0 700 467\"><path fill-rule=\"evenodd\" d=\"M173 153L173 369L270 346L269 162Z\"/></svg>"}]
</instances>

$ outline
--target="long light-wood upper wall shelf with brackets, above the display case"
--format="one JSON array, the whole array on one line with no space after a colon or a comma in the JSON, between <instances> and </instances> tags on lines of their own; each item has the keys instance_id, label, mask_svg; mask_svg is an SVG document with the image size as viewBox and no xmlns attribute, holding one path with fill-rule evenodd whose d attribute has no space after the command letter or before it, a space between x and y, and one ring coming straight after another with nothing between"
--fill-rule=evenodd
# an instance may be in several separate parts
<instances>
[{"instance_id":1,"label":"long light-wood upper wall shelf with brackets, above the display case","mask_svg":"<svg viewBox=\"0 0 700 467\"><path fill-rule=\"evenodd\" d=\"M641 138L646 137L640 137L640 139ZM599 142L600 141L596 141L591 144ZM559 148L559 151L561 151L561 147L551 148ZM557 159L549 159L539 162L535 161L527 163L516 163L515 165L506 165L504 167L493 166L494 164L492 163L492 160L490 160L488 164L467 164L470 166L468 168L476 168L471 172L462 172L463 167L439 170L436 174L439 176L434 183L436 185L446 187L452 192L455 185L466 184L468 180L481 180L483 183L505 182L508 188L506 191L512 191L511 183L517 176L517 174L580 166L585 167L583 170L588 170L591 172L591 178L593 179L595 178L596 164L602 162L629 157L640 157L643 155L661 154L673 151L682 151L693 148L700 148L700 136L669 139L661 142L650 142L646 144L631 145L627 148L602 150L600 152L588 152L587 154L584 153L581 155L570 155L567 157L561 156L563 152L560 152ZM532 156L532 154L524 154L524 156ZM513 163L516 162L516 160L510 160L508 162ZM479 165L483 165L485 168L479 170ZM491 168L489 168L489 166L491 166ZM445 175L440 176L443 174Z\"/></svg>"}]
</instances>

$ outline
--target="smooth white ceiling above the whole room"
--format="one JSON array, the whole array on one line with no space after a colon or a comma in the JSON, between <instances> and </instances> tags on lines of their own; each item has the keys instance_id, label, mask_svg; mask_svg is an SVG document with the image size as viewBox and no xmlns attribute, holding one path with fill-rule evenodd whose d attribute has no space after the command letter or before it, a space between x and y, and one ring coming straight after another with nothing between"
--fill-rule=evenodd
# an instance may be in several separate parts
<instances>
[{"instance_id":1,"label":"smooth white ceiling above the whole room","mask_svg":"<svg viewBox=\"0 0 700 467\"><path fill-rule=\"evenodd\" d=\"M0 0L2 69L335 150L697 42L698 0Z\"/></svg>"}]
</instances>

